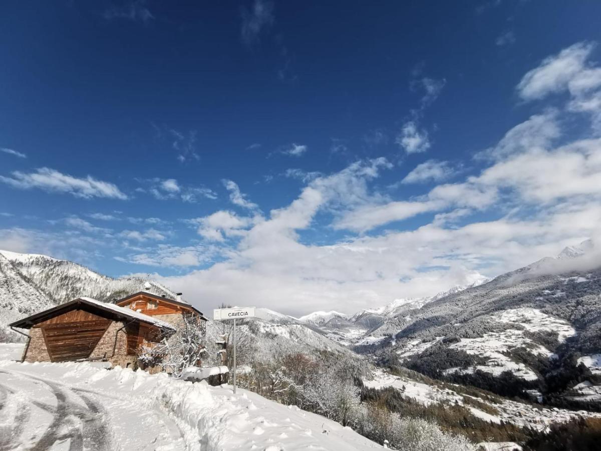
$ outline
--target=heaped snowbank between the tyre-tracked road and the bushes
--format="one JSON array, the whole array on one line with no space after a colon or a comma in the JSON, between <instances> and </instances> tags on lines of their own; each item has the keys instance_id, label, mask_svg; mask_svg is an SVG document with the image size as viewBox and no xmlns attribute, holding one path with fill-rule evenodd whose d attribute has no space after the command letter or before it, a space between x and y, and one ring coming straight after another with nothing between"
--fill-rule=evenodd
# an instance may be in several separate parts
<instances>
[{"instance_id":1,"label":"heaped snowbank between the tyre-tracked road and the bushes","mask_svg":"<svg viewBox=\"0 0 601 451\"><path fill-rule=\"evenodd\" d=\"M120 403L106 409L111 417L111 428L124 427L123 423L116 423L120 408L133 405L140 416L146 410L161 410L182 431L184 449L343 451L382 448L325 417L272 402L243 389L234 395L230 385L210 387L206 382L192 384L175 380L165 373L149 375L141 370L133 372L121 367L104 370L88 363L1 361L0 369L12 375L22 375L23 379L32 376L72 390L85 390L101 403L105 397L118 398ZM126 427L132 429L132 434L140 432L142 426L137 421L129 424L131 426ZM152 425L141 431L143 434L153 432ZM117 440L126 436L115 434Z\"/></svg>"}]
</instances>

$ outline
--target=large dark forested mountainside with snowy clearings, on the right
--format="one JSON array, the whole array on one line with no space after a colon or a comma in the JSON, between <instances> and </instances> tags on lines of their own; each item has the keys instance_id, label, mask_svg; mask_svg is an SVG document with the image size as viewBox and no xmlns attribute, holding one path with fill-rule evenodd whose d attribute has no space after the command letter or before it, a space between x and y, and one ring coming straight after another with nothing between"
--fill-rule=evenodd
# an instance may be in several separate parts
<instances>
[{"instance_id":1,"label":"large dark forested mountainside with snowy clearings, on the right","mask_svg":"<svg viewBox=\"0 0 601 451\"><path fill-rule=\"evenodd\" d=\"M474 376L477 372L499 376L508 371L531 387L539 381L546 387L546 376L554 372L579 371L565 363L573 353L584 356L586 364L596 361L587 356L601 352L601 260L591 256L594 247L587 241L558 257L447 294L386 319L357 349L385 360L394 357L430 376L474 383L481 377ZM566 380L570 377L575 378Z\"/></svg>"}]
</instances>

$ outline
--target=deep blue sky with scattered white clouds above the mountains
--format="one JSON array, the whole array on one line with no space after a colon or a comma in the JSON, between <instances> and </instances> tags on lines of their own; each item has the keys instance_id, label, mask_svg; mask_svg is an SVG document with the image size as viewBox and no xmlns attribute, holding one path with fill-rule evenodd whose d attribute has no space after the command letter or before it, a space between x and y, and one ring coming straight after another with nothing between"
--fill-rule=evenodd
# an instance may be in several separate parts
<instances>
[{"instance_id":1,"label":"deep blue sky with scattered white clouds above the mountains","mask_svg":"<svg viewBox=\"0 0 601 451\"><path fill-rule=\"evenodd\" d=\"M596 2L1 12L0 248L300 314L598 233Z\"/></svg>"}]
</instances>

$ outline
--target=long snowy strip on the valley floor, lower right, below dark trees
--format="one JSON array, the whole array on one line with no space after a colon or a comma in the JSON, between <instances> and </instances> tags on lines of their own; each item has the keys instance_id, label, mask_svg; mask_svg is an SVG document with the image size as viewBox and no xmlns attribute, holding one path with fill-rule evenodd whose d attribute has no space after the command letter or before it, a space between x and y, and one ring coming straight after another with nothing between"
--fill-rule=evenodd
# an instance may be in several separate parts
<instances>
[{"instance_id":1,"label":"long snowy strip on the valley floor, lower right, below dark trees","mask_svg":"<svg viewBox=\"0 0 601 451\"><path fill-rule=\"evenodd\" d=\"M499 403L487 402L481 398L474 398L466 394L459 393L460 386L450 384L453 387L457 387L456 390L450 390L444 387L438 387L436 385L424 384L407 377L394 376L383 370L376 370L374 372L374 378L371 380L364 379L363 383L366 387L370 388L384 388L393 387L396 388L404 397L416 400L417 402L429 406L433 404L442 405L453 405L459 403L464 405L471 411L472 415L483 419L487 422L493 423L513 423L517 426L524 426L542 430L546 425L551 423L563 423L570 419L577 418L579 416L594 416L601 417L601 414L589 413L585 411L570 411L559 408L545 408L545 407L533 407L532 405L516 402L508 399L503 399ZM448 387L449 385L447 385ZM478 408L472 407L469 400L466 398L471 397L478 402L488 404L498 414L492 415L484 412ZM501 399L501 398L499 398Z\"/></svg>"}]
</instances>

